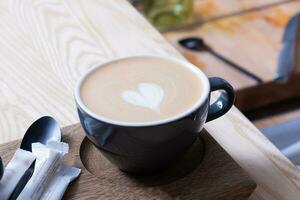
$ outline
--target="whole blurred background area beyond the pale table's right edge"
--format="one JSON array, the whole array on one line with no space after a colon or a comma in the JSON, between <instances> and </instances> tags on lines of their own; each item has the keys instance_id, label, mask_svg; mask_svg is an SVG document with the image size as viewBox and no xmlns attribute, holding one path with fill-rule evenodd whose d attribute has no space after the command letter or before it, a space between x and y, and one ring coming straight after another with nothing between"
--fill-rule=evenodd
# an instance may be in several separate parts
<instances>
[{"instance_id":1,"label":"whole blurred background area beyond the pale table's right edge","mask_svg":"<svg viewBox=\"0 0 300 200\"><path fill-rule=\"evenodd\" d=\"M300 165L299 0L130 0L190 62L235 88L235 105Z\"/></svg>"}]
</instances>

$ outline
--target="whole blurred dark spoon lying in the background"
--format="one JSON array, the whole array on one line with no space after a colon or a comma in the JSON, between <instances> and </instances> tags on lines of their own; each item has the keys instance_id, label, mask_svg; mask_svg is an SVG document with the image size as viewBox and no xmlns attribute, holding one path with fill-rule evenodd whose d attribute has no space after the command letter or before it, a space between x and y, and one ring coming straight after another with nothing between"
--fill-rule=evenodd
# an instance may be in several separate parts
<instances>
[{"instance_id":1,"label":"whole blurred dark spoon lying in the background","mask_svg":"<svg viewBox=\"0 0 300 200\"><path fill-rule=\"evenodd\" d=\"M179 44L181 44L183 47L194 50L194 51L206 51L210 53L211 55L215 56L222 62L226 63L228 66L238 70L239 72L243 73L244 75L256 80L258 83L262 83L262 79L253 74L252 72L249 72L248 70L244 69L243 67L237 65L236 63L230 61L229 59L223 57L219 53L215 52L210 46L208 46L202 38L199 37L190 37L179 40Z\"/></svg>"}]
</instances>

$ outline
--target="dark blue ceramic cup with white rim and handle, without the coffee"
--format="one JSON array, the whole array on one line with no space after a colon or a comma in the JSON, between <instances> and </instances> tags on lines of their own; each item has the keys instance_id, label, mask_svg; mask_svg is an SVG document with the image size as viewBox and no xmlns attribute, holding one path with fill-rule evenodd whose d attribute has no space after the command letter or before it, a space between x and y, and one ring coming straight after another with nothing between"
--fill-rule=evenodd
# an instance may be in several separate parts
<instances>
[{"instance_id":1,"label":"dark blue ceramic cup with white rim and handle, without the coffee","mask_svg":"<svg viewBox=\"0 0 300 200\"><path fill-rule=\"evenodd\" d=\"M101 64L84 74L75 89L77 110L87 137L122 171L149 174L170 166L192 146L204 123L224 115L234 102L234 90L227 81L207 78L199 68L183 60L155 58L178 62L198 75L203 93L196 105L180 115L156 122L125 123L97 115L84 105L80 89L85 78ZM128 58L118 60L124 59ZM221 96L210 104L210 93L216 90L222 91Z\"/></svg>"}]
</instances>

